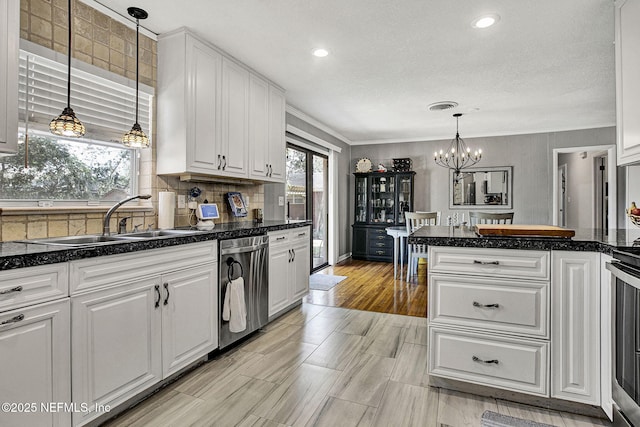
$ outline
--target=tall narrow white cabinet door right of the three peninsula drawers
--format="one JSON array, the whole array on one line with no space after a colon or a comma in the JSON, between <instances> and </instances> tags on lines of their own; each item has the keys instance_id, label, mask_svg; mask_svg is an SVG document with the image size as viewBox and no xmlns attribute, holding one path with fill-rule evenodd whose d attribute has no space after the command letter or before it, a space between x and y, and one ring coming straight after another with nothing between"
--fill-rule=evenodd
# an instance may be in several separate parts
<instances>
[{"instance_id":1,"label":"tall narrow white cabinet door right of the three peninsula drawers","mask_svg":"<svg viewBox=\"0 0 640 427\"><path fill-rule=\"evenodd\" d=\"M551 397L600 404L600 254L551 254Z\"/></svg>"}]
</instances>

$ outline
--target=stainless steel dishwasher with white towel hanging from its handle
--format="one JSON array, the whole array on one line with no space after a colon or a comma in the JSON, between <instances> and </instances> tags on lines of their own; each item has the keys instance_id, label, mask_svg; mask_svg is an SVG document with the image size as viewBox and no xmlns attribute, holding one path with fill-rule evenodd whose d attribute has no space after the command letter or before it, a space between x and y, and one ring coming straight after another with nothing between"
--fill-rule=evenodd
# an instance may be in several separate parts
<instances>
[{"instance_id":1,"label":"stainless steel dishwasher with white towel hanging from its handle","mask_svg":"<svg viewBox=\"0 0 640 427\"><path fill-rule=\"evenodd\" d=\"M269 319L269 236L220 240L219 249L218 341L220 348L225 348L266 325ZM229 320L223 320L225 296L230 290L229 283L239 277L244 279L246 329L231 332ZM234 301L231 307L238 309L238 303Z\"/></svg>"}]
</instances>

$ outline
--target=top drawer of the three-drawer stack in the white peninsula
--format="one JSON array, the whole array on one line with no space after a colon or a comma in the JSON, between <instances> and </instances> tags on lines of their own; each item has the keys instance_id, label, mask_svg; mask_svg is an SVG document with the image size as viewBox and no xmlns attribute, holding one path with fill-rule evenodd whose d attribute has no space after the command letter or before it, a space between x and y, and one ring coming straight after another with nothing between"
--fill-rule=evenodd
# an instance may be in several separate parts
<instances>
[{"instance_id":1,"label":"top drawer of the three-drawer stack in the white peninsula","mask_svg":"<svg viewBox=\"0 0 640 427\"><path fill-rule=\"evenodd\" d=\"M549 280L549 252L431 246L429 271Z\"/></svg>"}]
</instances>

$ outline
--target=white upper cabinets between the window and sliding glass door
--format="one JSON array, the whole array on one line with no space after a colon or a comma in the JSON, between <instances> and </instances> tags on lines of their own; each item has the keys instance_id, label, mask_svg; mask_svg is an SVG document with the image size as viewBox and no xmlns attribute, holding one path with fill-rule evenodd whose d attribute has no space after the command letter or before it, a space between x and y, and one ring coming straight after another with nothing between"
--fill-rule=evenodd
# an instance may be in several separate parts
<instances>
[{"instance_id":1,"label":"white upper cabinets between the window and sliding glass door","mask_svg":"<svg viewBox=\"0 0 640 427\"><path fill-rule=\"evenodd\" d=\"M182 29L158 41L158 174L284 181L284 93Z\"/></svg>"}]
</instances>

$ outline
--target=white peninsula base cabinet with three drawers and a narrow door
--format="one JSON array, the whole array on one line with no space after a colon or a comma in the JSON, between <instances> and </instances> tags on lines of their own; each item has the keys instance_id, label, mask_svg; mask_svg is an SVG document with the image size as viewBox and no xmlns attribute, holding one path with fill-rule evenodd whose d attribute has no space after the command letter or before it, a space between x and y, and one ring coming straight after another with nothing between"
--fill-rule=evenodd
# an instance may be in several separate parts
<instances>
[{"instance_id":1,"label":"white peninsula base cabinet with three drawers and a narrow door","mask_svg":"<svg viewBox=\"0 0 640 427\"><path fill-rule=\"evenodd\" d=\"M429 251L430 375L600 405L600 254Z\"/></svg>"}]
</instances>

